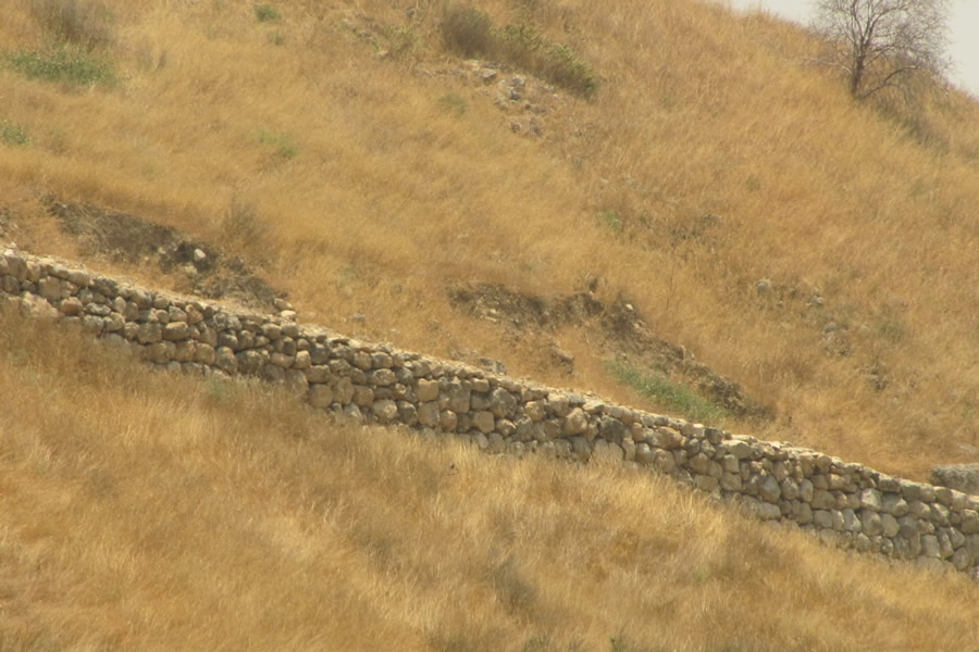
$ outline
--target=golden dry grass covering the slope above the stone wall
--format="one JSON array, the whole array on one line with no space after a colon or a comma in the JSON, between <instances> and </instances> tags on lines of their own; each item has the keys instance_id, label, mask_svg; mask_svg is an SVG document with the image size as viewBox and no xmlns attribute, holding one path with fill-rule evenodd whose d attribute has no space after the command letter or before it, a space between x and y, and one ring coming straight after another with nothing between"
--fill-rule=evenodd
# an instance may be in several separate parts
<instances>
[{"instance_id":1,"label":"golden dry grass covering the slope above the stone wall","mask_svg":"<svg viewBox=\"0 0 979 652\"><path fill-rule=\"evenodd\" d=\"M443 50L437 2L411 24L381 0L278 2L274 24L244 1L103 4L117 87L0 66L0 120L32 138L0 146L0 187L23 198L8 203L35 249L72 251L45 230L36 190L215 240L243 201L270 227L249 260L306 318L340 330L442 355L478 348L511 372L637 401L587 331L556 336L578 358L568 378L541 338L473 323L445 296L464 281L567 294L596 276L603 298L631 300L778 411L729 428L917 478L979 446L979 110L966 96L888 117L805 63L802 30L709 3L480 2L498 24L530 15L602 76L592 102L553 100L530 139L480 85L438 73L461 64ZM52 38L30 5L4 8L9 49ZM343 22L362 30L365 17L382 46L395 28L420 46L377 57ZM448 93L464 113L445 111ZM720 222L697 230L708 213ZM760 278L798 298L759 298ZM819 309L806 306L815 289ZM345 323L355 312L364 325ZM829 322L848 355L826 353Z\"/></svg>"}]
</instances>

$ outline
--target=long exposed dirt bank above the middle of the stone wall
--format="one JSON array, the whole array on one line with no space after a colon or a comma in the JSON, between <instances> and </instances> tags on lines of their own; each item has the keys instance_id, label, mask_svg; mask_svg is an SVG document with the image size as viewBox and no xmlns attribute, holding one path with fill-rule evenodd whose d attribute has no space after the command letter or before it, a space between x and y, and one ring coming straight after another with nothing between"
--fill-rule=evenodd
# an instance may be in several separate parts
<instances>
[{"instance_id":1,"label":"long exposed dirt bank above the middle of the stone wall","mask_svg":"<svg viewBox=\"0 0 979 652\"><path fill-rule=\"evenodd\" d=\"M690 385L738 416L772 416L770 409L753 401L740 385L697 362L689 349L655 337L630 303L606 303L591 292L544 299L490 284L455 287L448 293L457 310L508 328L521 331L555 331L568 326L587 328L597 336L596 344L605 356L627 354L646 368Z\"/></svg>"}]
</instances>

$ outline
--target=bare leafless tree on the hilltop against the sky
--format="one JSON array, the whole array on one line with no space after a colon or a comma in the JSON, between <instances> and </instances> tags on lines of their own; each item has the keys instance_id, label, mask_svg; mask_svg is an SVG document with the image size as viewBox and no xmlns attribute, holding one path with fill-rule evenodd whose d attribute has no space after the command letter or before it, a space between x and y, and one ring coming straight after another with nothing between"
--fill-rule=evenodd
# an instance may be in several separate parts
<instances>
[{"instance_id":1,"label":"bare leafless tree on the hilltop against the sky","mask_svg":"<svg viewBox=\"0 0 979 652\"><path fill-rule=\"evenodd\" d=\"M850 93L864 99L887 88L907 95L916 77L941 75L949 0L816 0L816 27Z\"/></svg>"}]
</instances>

